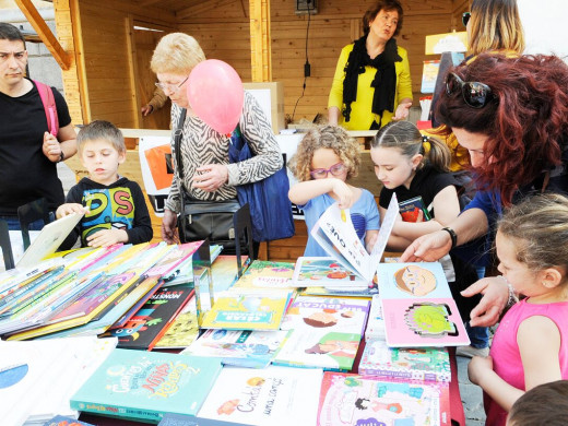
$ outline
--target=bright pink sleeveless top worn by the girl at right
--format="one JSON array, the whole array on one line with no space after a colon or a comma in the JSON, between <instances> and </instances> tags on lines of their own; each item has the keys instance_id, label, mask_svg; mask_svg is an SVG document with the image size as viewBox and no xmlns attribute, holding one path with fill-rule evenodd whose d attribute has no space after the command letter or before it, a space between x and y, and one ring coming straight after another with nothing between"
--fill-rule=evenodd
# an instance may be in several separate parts
<instances>
[{"instance_id":1,"label":"bright pink sleeveless top worn by the girl at right","mask_svg":"<svg viewBox=\"0 0 568 426\"><path fill-rule=\"evenodd\" d=\"M563 379L568 379L568 301L533 305L523 299L505 315L495 332L489 355L493 369L497 375L517 389L524 390L524 371L521 354L517 344L517 332L523 320L533 316L552 319L560 331L560 371ZM484 406L487 414L486 425L505 425L507 412L484 393Z\"/></svg>"}]
</instances>

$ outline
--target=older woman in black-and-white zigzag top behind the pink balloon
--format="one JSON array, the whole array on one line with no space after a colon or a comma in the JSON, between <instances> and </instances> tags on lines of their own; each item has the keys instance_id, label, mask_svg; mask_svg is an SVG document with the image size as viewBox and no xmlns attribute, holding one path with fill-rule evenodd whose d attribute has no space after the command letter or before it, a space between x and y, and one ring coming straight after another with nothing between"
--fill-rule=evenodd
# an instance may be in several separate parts
<instances>
[{"instance_id":1,"label":"older woman in black-and-white zigzag top behind the pink balloon","mask_svg":"<svg viewBox=\"0 0 568 426\"><path fill-rule=\"evenodd\" d=\"M233 200L237 197L236 186L262 180L277 171L283 163L267 117L256 99L245 93L239 127L255 157L229 164L229 138L197 117L188 102L189 74L204 60L205 55L193 37L173 33L159 40L151 61L158 79L156 86L171 99L171 129L179 127L176 132L181 132L184 177L179 181L178 174L174 175L162 221L162 238L169 244L176 240L180 191L185 191L186 200Z\"/></svg>"}]
</instances>

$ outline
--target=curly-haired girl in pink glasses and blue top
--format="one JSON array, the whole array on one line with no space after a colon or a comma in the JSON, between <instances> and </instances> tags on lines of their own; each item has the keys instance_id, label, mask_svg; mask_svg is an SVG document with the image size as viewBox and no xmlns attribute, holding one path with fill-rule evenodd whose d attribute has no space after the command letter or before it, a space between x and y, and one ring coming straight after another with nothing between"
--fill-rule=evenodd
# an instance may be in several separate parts
<instances>
[{"instance_id":1,"label":"curly-haired girl in pink glasses and blue top","mask_svg":"<svg viewBox=\"0 0 568 426\"><path fill-rule=\"evenodd\" d=\"M329 256L309 234L321 214L334 202L350 209L357 236L368 251L379 234L379 211L372 194L346 182L357 176L359 147L340 127L311 129L298 144L288 167L299 180L289 189L291 201L304 211L308 244L304 256Z\"/></svg>"}]
</instances>

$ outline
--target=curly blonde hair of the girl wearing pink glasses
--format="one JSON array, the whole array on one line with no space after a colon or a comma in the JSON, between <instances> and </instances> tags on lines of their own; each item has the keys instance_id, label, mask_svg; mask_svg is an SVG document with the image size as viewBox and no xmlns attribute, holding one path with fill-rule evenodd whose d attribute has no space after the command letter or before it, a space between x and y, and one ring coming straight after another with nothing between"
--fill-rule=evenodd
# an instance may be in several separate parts
<instances>
[{"instance_id":1,"label":"curly blonde hair of the girl wearing pink glasses","mask_svg":"<svg viewBox=\"0 0 568 426\"><path fill-rule=\"evenodd\" d=\"M333 150L347 169L347 179L357 176L360 166L359 146L355 139L338 126L320 126L310 129L298 144L288 167L299 181L310 180L311 159L319 149Z\"/></svg>"}]
</instances>

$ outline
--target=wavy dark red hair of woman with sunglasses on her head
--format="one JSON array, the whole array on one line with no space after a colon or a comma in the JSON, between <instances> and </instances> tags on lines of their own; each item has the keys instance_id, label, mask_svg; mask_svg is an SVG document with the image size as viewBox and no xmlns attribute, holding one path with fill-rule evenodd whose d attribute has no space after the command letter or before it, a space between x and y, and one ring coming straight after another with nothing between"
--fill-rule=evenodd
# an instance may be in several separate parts
<instances>
[{"instance_id":1,"label":"wavy dark red hair of woman with sunglasses on her head","mask_svg":"<svg viewBox=\"0 0 568 426\"><path fill-rule=\"evenodd\" d=\"M497 190L510 204L520 186L560 164L559 142L568 134L568 66L555 56L482 54L450 72L487 84L493 98L472 108L461 91L442 91L436 117L446 134L458 128L487 137L486 161L475 170L477 188Z\"/></svg>"}]
</instances>

